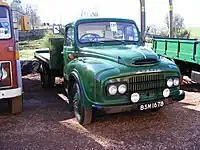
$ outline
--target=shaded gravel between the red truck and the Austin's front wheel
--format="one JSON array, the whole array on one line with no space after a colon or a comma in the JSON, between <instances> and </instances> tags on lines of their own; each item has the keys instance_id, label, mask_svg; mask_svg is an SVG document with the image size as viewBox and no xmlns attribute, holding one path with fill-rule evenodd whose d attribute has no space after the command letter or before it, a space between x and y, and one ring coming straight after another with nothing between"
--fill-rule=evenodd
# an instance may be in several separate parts
<instances>
[{"instance_id":1,"label":"shaded gravel between the red truck and the Austin's front wheel","mask_svg":"<svg viewBox=\"0 0 200 150\"><path fill-rule=\"evenodd\" d=\"M95 140L61 125L60 121L74 118L57 95L63 92L62 85L44 90L36 77L23 78L23 112L0 115L0 149L104 149Z\"/></svg>"}]
</instances>

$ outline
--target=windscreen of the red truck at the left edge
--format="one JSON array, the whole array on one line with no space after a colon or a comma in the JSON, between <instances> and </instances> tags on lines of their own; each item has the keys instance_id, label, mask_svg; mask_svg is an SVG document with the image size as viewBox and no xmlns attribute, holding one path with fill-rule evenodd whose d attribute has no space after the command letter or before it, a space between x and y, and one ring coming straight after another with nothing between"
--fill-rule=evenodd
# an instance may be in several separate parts
<instances>
[{"instance_id":1,"label":"windscreen of the red truck at the left edge","mask_svg":"<svg viewBox=\"0 0 200 150\"><path fill-rule=\"evenodd\" d=\"M10 16L6 7L0 6L0 40L11 38Z\"/></svg>"}]
</instances>

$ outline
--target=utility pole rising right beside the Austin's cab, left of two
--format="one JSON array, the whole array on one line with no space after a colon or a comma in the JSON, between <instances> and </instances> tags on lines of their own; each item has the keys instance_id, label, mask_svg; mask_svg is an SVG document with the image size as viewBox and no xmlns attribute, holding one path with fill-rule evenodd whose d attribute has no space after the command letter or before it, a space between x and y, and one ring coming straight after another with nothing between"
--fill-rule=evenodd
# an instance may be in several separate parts
<instances>
[{"instance_id":1,"label":"utility pole rising right beside the Austin's cab, left of two","mask_svg":"<svg viewBox=\"0 0 200 150\"><path fill-rule=\"evenodd\" d=\"M145 43L144 34L145 34L145 0L140 0L140 16L141 16L141 40L142 45Z\"/></svg>"}]
</instances>

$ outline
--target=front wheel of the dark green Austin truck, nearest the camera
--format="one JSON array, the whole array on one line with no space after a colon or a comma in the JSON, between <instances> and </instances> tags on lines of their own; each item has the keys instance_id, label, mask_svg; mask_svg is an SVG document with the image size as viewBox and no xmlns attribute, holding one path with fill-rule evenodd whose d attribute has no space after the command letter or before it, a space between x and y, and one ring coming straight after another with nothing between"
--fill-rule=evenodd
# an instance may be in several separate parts
<instances>
[{"instance_id":1,"label":"front wheel of the dark green Austin truck, nearest the camera","mask_svg":"<svg viewBox=\"0 0 200 150\"><path fill-rule=\"evenodd\" d=\"M78 82L73 84L72 91L69 94L71 95L74 115L77 121L82 125L90 124L92 122L92 110L85 108L83 103L83 93Z\"/></svg>"}]
</instances>

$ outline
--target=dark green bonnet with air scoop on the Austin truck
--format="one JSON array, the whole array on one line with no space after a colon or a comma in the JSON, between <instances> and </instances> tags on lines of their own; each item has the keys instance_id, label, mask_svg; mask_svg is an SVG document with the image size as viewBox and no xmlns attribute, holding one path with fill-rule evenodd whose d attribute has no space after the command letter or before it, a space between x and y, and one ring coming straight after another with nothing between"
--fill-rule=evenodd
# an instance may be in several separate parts
<instances>
[{"instance_id":1,"label":"dark green bonnet with air scoop on the Austin truck","mask_svg":"<svg viewBox=\"0 0 200 150\"><path fill-rule=\"evenodd\" d=\"M155 64L159 62L159 57L155 52L137 45L85 47L82 50L92 55L92 57L109 59L126 66Z\"/></svg>"}]
</instances>

